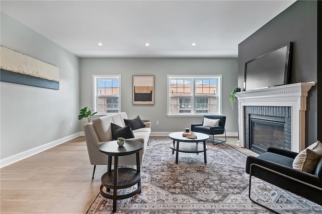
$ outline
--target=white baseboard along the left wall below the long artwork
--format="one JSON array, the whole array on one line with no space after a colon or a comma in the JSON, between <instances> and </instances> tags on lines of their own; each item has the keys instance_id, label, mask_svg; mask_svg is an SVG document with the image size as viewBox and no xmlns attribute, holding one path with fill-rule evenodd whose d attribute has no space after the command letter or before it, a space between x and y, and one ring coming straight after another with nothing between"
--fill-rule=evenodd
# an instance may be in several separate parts
<instances>
[{"instance_id":1,"label":"white baseboard along the left wall below the long artwork","mask_svg":"<svg viewBox=\"0 0 322 214\"><path fill-rule=\"evenodd\" d=\"M84 132L83 132L83 134L84 134ZM78 136L81 136L81 133L72 134L72 135L66 136L64 138L52 141L50 143L46 143L44 145L41 145L41 146L38 146L38 147L35 147L32 149L26 150L24 152L9 156L7 158L1 159L0 160L0 168L3 168L3 167L8 166L10 164L16 163L17 161L28 158L32 155L39 153L39 152L43 152L43 151L50 149L54 146L57 146L59 144L65 143L66 141L74 139Z\"/></svg>"}]
</instances>

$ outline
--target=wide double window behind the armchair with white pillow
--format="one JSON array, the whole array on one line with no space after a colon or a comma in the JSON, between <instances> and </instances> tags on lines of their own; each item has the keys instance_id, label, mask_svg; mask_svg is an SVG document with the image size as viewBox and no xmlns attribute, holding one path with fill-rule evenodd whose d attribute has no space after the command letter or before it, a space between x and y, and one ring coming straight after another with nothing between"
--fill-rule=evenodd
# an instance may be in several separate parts
<instances>
[{"instance_id":1,"label":"wide double window behind the armchair with white pillow","mask_svg":"<svg viewBox=\"0 0 322 214\"><path fill-rule=\"evenodd\" d=\"M168 75L168 115L221 114L221 75Z\"/></svg>"}]
</instances>

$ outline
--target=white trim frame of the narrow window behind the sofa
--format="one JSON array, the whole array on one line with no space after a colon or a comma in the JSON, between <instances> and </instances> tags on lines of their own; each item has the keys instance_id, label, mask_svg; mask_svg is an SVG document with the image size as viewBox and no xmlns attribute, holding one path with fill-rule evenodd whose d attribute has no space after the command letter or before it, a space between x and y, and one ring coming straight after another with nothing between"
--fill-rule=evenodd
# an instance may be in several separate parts
<instances>
[{"instance_id":1,"label":"white trim frame of the narrow window behind the sofa","mask_svg":"<svg viewBox=\"0 0 322 214\"><path fill-rule=\"evenodd\" d=\"M97 112L97 79L99 78L111 78L119 79L119 112L121 111L121 75L93 75L93 110ZM96 115L112 115L115 113L97 113Z\"/></svg>"}]
</instances>

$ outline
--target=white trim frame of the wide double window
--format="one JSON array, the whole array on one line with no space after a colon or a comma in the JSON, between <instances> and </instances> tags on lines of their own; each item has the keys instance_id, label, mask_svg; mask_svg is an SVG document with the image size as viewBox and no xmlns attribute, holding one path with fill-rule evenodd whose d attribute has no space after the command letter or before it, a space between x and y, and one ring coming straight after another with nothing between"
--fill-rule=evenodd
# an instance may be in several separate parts
<instances>
[{"instance_id":1,"label":"white trim frame of the wide double window","mask_svg":"<svg viewBox=\"0 0 322 214\"><path fill-rule=\"evenodd\" d=\"M216 114L212 114L212 113L200 113L200 114L195 114L194 111L191 111L191 113L182 113L182 114L169 114L170 113L170 88L169 88L169 78L183 78L183 77L187 77L187 78L218 78L218 89L217 89L217 94L218 94L218 103L217 103L217 110L218 112ZM217 75L167 75L167 117L201 117L203 115L221 115L222 114L222 75L221 74L217 74ZM194 90L195 90L195 86L192 87L191 89L192 94L193 94L193 100L191 101L191 104L194 104L195 102L195 94L194 94Z\"/></svg>"}]
</instances>

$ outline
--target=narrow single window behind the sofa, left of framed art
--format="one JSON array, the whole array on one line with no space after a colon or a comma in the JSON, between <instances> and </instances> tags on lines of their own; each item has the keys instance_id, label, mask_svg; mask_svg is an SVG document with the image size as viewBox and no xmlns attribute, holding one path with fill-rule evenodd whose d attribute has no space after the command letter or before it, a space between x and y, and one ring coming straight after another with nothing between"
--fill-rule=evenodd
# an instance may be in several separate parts
<instances>
[{"instance_id":1,"label":"narrow single window behind the sofa, left of framed art","mask_svg":"<svg viewBox=\"0 0 322 214\"><path fill-rule=\"evenodd\" d=\"M94 75L94 111L99 114L119 113L121 109L121 76Z\"/></svg>"}]
</instances>

